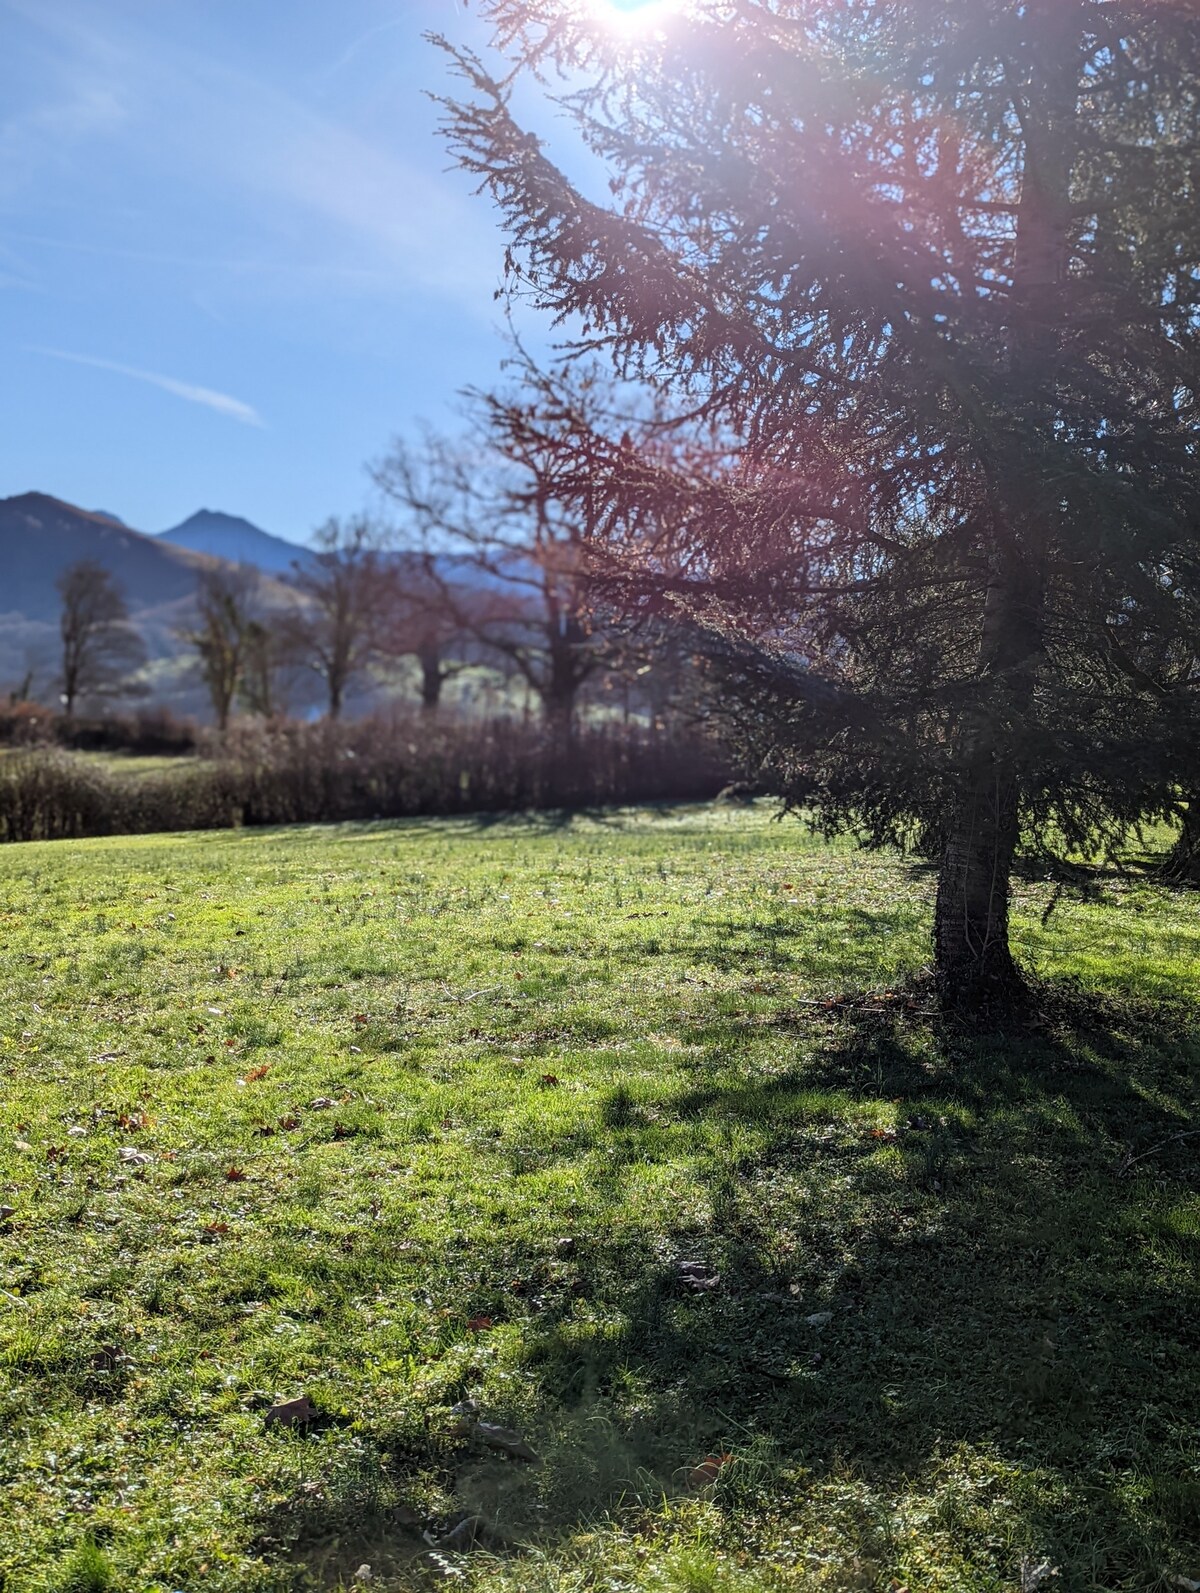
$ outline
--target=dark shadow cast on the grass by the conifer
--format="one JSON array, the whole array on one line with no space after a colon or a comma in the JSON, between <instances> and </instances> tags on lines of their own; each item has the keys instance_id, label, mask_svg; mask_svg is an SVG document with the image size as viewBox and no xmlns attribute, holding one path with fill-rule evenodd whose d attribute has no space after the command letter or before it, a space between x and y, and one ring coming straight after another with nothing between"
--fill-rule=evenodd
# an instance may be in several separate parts
<instances>
[{"instance_id":1,"label":"dark shadow cast on the grass by the conifer","mask_svg":"<svg viewBox=\"0 0 1200 1593\"><path fill-rule=\"evenodd\" d=\"M666 1233L631 1193L642 1107L609 1102L610 1220L572 1246L572 1286L531 1301L524 1402L489 1413L543 1464L443 1453L462 1509L563 1532L687 1496L703 1456L731 1453L743 1472L711 1502L730 1540L760 1509L816 1539L856 1491L876 1526L838 1528L859 1580L832 1587L904 1571L904 1532L878 1523L905 1510L969 1587L1012 1583L1025 1548L1063 1593L1195 1564L1197 1295L1190 1230L1165 1214L1197 1203L1179 1136L1200 1121L1200 1024L1052 994L1041 1029L1006 1035L781 1018L811 1042L787 1070L668 1086L655 1112L695 1128L704 1209L680 1203Z\"/></svg>"}]
</instances>

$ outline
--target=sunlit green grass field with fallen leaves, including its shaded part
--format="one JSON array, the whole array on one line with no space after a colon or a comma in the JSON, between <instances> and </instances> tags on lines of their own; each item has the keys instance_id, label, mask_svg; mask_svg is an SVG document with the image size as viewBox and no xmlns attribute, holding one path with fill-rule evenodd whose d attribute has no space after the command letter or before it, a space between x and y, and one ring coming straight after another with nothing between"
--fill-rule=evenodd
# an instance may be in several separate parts
<instances>
[{"instance_id":1,"label":"sunlit green grass field with fallen leaves, including its shaded part","mask_svg":"<svg viewBox=\"0 0 1200 1593\"><path fill-rule=\"evenodd\" d=\"M3 1593L1195 1585L1200 908L1052 889L988 1039L762 809L6 847Z\"/></svg>"}]
</instances>

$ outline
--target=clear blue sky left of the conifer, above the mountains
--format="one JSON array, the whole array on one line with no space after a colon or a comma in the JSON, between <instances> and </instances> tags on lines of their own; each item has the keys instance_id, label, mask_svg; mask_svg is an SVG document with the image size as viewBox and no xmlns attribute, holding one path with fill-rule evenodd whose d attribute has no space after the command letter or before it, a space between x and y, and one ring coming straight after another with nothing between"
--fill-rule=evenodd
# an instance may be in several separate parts
<instances>
[{"instance_id":1,"label":"clear blue sky left of the conifer, above the mountains","mask_svg":"<svg viewBox=\"0 0 1200 1593\"><path fill-rule=\"evenodd\" d=\"M0 0L0 497L303 540L488 382L504 239L433 134L459 0Z\"/></svg>"}]
</instances>

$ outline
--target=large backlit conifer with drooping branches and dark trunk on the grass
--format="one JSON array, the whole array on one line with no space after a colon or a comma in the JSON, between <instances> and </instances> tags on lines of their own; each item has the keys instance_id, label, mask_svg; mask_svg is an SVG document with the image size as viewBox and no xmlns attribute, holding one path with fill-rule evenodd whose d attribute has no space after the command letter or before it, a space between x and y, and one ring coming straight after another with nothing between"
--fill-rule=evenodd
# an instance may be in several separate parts
<instances>
[{"instance_id":1,"label":"large backlit conifer with drooping branches and dark trunk on the grass","mask_svg":"<svg viewBox=\"0 0 1200 1593\"><path fill-rule=\"evenodd\" d=\"M451 49L445 126L515 288L728 443L700 481L564 429L559 484L714 637L781 789L935 846L945 997L1020 999L1022 835L1162 809L1194 734L1119 653L1200 526L1195 6L483 10L510 67ZM523 76L566 84L610 201Z\"/></svg>"}]
</instances>

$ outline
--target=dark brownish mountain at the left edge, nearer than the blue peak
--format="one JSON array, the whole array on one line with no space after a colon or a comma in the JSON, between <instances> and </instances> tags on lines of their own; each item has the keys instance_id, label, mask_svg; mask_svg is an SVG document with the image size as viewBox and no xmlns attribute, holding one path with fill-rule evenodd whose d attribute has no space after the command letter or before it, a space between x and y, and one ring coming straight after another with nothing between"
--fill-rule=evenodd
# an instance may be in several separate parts
<instances>
[{"instance_id":1,"label":"dark brownish mountain at the left edge, nearer than the blue peak","mask_svg":"<svg viewBox=\"0 0 1200 1593\"><path fill-rule=\"evenodd\" d=\"M45 492L0 499L0 613L57 621L54 581L69 564L94 559L116 577L131 613L190 599L209 561L75 508Z\"/></svg>"}]
</instances>

